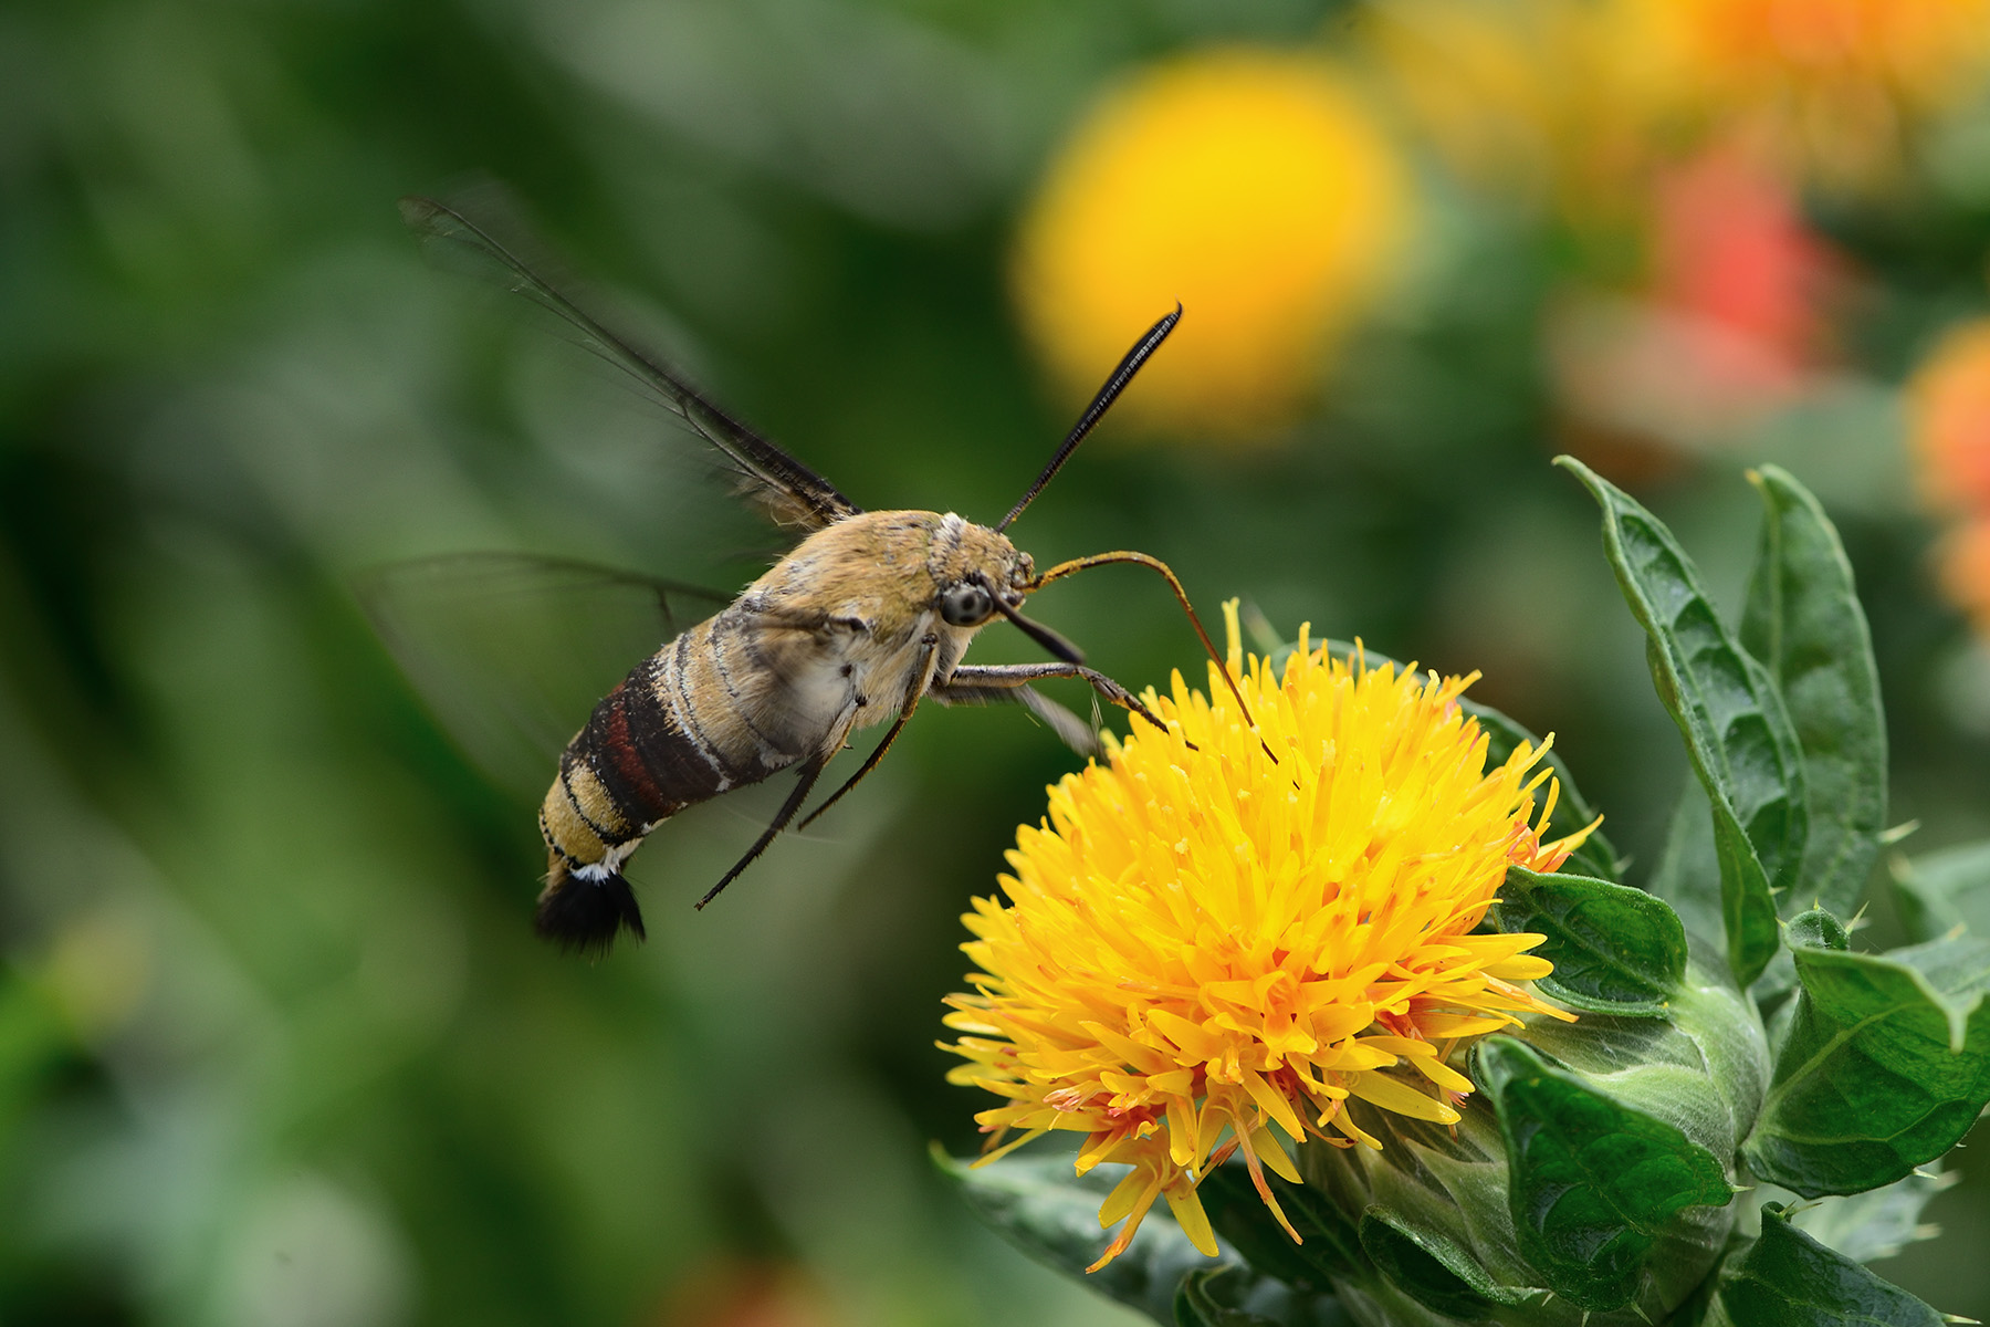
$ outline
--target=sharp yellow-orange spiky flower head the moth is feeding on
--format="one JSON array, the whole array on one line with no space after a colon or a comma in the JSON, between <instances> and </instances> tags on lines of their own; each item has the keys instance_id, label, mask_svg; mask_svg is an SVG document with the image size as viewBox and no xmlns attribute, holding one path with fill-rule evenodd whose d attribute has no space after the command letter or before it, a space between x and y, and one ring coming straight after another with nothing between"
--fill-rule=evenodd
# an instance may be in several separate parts
<instances>
[{"instance_id":1,"label":"sharp yellow-orange spiky flower head the moth is feeding on","mask_svg":"<svg viewBox=\"0 0 1990 1327\"><path fill-rule=\"evenodd\" d=\"M1017 832L1009 901L963 917L979 971L947 1001L967 1058L949 1080L1003 1098L975 1116L985 1160L1073 1130L1079 1174L1132 1166L1093 1269L1156 1198L1214 1253L1196 1184L1236 1150L1284 1222L1262 1168L1299 1180L1286 1142L1379 1146L1349 1098L1457 1122L1461 1041L1568 1017L1516 985L1552 971L1526 953L1542 937L1473 931L1510 863L1554 869L1588 834L1540 842L1544 746L1487 770L1455 704L1477 674L1347 664L1301 633L1280 676L1244 666L1236 603L1226 617L1256 728L1214 664L1214 700L1180 674L1148 690L1168 732L1134 728L1057 784L1049 820Z\"/></svg>"}]
</instances>

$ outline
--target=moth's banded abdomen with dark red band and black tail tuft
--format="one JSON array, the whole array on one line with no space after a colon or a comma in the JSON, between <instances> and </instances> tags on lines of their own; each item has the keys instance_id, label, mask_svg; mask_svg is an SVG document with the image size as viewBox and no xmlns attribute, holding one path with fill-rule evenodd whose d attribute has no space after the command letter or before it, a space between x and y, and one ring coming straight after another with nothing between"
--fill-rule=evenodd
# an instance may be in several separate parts
<instances>
[{"instance_id":1,"label":"moth's banded abdomen with dark red band and black tail tuft","mask_svg":"<svg viewBox=\"0 0 1990 1327\"><path fill-rule=\"evenodd\" d=\"M687 631L603 696L561 752L559 778L539 806L541 935L583 951L605 951L625 927L641 939L643 913L621 863L643 836L687 806L792 764L724 710L726 655L742 645L724 615Z\"/></svg>"}]
</instances>

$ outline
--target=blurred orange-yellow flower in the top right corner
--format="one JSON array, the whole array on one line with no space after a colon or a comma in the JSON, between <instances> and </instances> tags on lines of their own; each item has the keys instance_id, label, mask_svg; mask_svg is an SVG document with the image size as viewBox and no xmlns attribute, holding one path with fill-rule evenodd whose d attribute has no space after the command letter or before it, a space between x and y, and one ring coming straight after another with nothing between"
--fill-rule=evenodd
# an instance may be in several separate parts
<instances>
[{"instance_id":1,"label":"blurred orange-yellow flower in the top right corner","mask_svg":"<svg viewBox=\"0 0 1990 1327\"><path fill-rule=\"evenodd\" d=\"M1743 115L1791 163L1857 185L1900 169L1900 131L1990 74L1990 0L1616 0L1703 113Z\"/></svg>"}]
</instances>

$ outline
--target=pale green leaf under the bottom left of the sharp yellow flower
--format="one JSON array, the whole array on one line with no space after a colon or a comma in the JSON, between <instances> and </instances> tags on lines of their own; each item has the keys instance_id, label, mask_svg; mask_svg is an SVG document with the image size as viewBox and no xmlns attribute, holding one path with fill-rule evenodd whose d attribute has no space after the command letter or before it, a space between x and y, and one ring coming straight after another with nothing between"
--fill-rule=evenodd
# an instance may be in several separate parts
<instances>
[{"instance_id":1,"label":"pale green leaf under the bottom left of the sharp yellow flower","mask_svg":"<svg viewBox=\"0 0 1990 1327\"><path fill-rule=\"evenodd\" d=\"M1075 1178L1069 1156L1005 1156L969 1166L947 1156L939 1144L931 1152L939 1174L953 1182L967 1208L1009 1243L1156 1323L1174 1321L1182 1277L1212 1267L1180 1226L1154 1212L1124 1253L1087 1275L1085 1269L1106 1245L1098 1228L1098 1204L1110 1192L1104 1176Z\"/></svg>"}]
</instances>

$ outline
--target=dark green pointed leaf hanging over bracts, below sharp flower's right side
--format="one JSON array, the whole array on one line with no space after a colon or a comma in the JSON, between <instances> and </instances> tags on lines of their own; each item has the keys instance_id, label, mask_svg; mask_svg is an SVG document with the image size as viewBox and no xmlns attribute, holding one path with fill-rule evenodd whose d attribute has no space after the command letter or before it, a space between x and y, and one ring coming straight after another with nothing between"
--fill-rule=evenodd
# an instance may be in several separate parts
<instances>
[{"instance_id":1,"label":"dark green pointed leaf hanging over bracts, below sharp flower's right side","mask_svg":"<svg viewBox=\"0 0 1990 1327\"><path fill-rule=\"evenodd\" d=\"M1526 1043L1491 1037L1477 1060L1506 1148L1520 1253L1576 1307L1630 1303L1674 1222L1733 1198L1711 1152Z\"/></svg>"}]
</instances>

